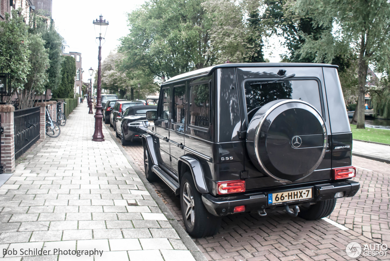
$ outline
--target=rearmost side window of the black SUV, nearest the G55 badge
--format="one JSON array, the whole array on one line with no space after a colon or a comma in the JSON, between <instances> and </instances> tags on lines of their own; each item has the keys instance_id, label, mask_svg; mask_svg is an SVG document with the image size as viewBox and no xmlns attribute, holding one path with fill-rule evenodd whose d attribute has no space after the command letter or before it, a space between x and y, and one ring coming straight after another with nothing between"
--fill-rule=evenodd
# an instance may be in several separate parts
<instances>
[{"instance_id":1,"label":"rearmost side window of the black SUV, nearest the G55 badge","mask_svg":"<svg viewBox=\"0 0 390 261\"><path fill-rule=\"evenodd\" d=\"M190 87L190 125L209 127L210 85L208 83Z\"/></svg>"}]
</instances>

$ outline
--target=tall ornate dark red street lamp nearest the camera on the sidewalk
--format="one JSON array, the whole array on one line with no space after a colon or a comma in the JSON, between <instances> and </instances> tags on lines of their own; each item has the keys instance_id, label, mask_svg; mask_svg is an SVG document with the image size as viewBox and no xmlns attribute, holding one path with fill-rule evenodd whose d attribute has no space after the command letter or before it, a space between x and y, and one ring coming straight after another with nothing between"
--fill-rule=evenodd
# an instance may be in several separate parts
<instances>
[{"instance_id":1,"label":"tall ornate dark red street lamp nearest the camera on the sidewalk","mask_svg":"<svg viewBox=\"0 0 390 261\"><path fill-rule=\"evenodd\" d=\"M96 112L95 112L95 132L92 136L92 141L104 141L104 135L102 131L102 120L103 113L101 108L101 40L106 36L108 21L103 20L103 16L100 15L99 19L92 22L95 26L95 32L97 28L97 37L99 39L99 55L97 60L99 61L97 66L97 101L96 101Z\"/></svg>"}]
</instances>

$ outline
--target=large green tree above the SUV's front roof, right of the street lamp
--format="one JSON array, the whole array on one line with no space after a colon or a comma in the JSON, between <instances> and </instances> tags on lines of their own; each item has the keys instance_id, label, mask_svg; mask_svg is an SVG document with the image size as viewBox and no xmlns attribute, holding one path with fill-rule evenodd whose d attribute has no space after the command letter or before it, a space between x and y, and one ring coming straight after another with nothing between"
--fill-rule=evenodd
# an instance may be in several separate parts
<instances>
[{"instance_id":1,"label":"large green tree above the SUV's front roof, right of the street lamp","mask_svg":"<svg viewBox=\"0 0 390 261\"><path fill-rule=\"evenodd\" d=\"M166 79L214 63L202 0L151 0L128 15L121 39L127 70L142 68Z\"/></svg>"}]
</instances>

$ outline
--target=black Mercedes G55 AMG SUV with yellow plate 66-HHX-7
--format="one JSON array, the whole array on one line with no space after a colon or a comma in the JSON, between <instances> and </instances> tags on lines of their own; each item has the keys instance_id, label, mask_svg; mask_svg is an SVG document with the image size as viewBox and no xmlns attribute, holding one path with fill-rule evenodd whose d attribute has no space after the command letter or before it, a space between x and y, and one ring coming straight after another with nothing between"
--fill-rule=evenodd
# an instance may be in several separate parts
<instances>
[{"instance_id":1,"label":"black Mercedes G55 AMG SUV with yellow plate 66-HHX-7","mask_svg":"<svg viewBox=\"0 0 390 261\"><path fill-rule=\"evenodd\" d=\"M239 212L320 219L360 187L335 65L227 63L180 74L161 85L147 120L146 178L179 195L194 237Z\"/></svg>"}]
</instances>

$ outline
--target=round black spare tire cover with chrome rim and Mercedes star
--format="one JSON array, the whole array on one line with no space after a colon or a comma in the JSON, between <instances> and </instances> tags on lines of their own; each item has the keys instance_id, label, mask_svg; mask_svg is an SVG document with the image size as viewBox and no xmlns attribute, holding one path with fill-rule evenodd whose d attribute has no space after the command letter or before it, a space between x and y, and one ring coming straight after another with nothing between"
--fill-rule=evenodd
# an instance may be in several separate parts
<instances>
[{"instance_id":1,"label":"round black spare tire cover with chrome rim and Mercedes star","mask_svg":"<svg viewBox=\"0 0 390 261\"><path fill-rule=\"evenodd\" d=\"M310 175L321 163L326 145L323 118L300 100L276 100L262 106L246 135L246 148L256 168L284 182Z\"/></svg>"}]
</instances>

